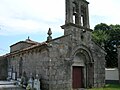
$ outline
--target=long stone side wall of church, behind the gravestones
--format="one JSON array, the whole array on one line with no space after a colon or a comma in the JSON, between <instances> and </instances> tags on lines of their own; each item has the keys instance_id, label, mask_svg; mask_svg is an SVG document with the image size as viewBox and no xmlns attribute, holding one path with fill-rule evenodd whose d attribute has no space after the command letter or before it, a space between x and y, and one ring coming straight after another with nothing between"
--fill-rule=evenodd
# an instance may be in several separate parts
<instances>
[{"instance_id":1,"label":"long stone side wall of church, behind the gravestones","mask_svg":"<svg viewBox=\"0 0 120 90\"><path fill-rule=\"evenodd\" d=\"M19 62L22 58L22 73L26 72L27 77L40 76L41 89L48 90L49 88L49 53L46 48L28 50L27 52L17 53L10 56L10 65L13 67L13 72L17 72L17 77L20 78Z\"/></svg>"}]
</instances>

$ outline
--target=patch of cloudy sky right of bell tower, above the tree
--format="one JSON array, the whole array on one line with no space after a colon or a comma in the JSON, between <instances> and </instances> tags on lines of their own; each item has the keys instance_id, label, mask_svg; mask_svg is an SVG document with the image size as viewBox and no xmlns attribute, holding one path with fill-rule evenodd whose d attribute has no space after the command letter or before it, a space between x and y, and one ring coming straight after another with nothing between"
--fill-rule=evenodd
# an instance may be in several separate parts
<instances>
[{"instance_id":1,"label":"patch of cloudy sky right of bell tower, above the tree","mask_svg":"<svg viewBox=\"0 0 120 90\"><path fill-rule=\"evenodd\" d=\"M88 0L90 2L90 23L120 24L120 0Z\"/></svg>"}]
</instances>

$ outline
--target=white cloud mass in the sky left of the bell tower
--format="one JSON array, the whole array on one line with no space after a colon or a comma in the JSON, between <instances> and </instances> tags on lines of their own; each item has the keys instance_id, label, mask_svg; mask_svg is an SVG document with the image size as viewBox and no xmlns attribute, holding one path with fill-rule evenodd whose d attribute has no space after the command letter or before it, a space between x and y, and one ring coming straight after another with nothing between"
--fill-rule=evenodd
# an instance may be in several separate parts
<instances>
[{"instance_id":1,"label":"white cloud mass in the sky left of the bell tower","mask_svg":"<svg viewBox=\"0 0 120 90\"><path fill-rule=\"evenodd\" d=\"M60 32L57 27L64 24L63 19L63 0L0 1L0 35L38 33L48 30L49 27Z\"/></svg>"}]
</instances>

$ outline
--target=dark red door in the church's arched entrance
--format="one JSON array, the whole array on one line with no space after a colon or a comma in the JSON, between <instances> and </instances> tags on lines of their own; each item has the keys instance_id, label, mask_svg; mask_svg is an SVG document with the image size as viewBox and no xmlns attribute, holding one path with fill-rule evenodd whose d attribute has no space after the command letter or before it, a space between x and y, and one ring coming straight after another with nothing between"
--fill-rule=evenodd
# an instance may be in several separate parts
<instances>
[{"instance_id":1,"label":"dark red door in the church's arched entrance","mask_svg":"<svg viewBox=\"0 0 120 90\"><path fill-rule=\"evenodd\" d=\"M82 69L83 69L83 67L79 67L79 66L74 66L73 67L73 75L72 75L73 89L83 88L83 72L82 72Z\"/></svg>"}]
</instances>

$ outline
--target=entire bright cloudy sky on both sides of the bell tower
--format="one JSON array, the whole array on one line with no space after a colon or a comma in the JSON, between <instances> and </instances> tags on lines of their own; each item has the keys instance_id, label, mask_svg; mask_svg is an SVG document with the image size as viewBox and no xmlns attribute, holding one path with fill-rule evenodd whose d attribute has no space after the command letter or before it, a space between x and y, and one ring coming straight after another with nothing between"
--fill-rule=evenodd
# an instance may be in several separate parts
<instances>
[{"instance_id":1,"label":"entire bright cloudy sky on both sides of the bell tower","mask_svg":"<svg viewBox=\"0 0 120 90\"><path fill-rule=\"evenodd\" d=\"M90 28L99 23L120 24L120 0L87 0ZM9 46L31 40L47 40L63 35L65 0L0 0L0 55L10 52Z\"/></svg>"}]
</instances>

